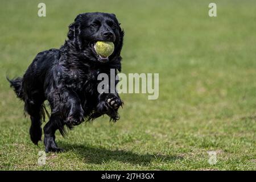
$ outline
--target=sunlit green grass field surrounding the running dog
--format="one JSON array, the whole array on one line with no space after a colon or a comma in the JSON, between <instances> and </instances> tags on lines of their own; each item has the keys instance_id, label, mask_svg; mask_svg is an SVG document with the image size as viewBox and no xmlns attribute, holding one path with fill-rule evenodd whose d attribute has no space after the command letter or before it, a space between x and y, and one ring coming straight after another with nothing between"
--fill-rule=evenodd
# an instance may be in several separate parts
<instances>
[{"instance_id":1,"label":"sunlit green grass field surrounding the running dog","mask_svg":"<svg viewBox=\"0 0 256 182\"><path fill-rule=\"evenodd\" d=\"M39 18L38 3L47 16ZM0 169L255 170L256 2L1 1ZM38 165L30 121L5 76L22 76L36 53L64 43L79 13L115 13L123 73L159 73L159 98L121 94L121 119L82 123L56 141L61 154ZM44 125L45 123L43 123ZM208 163L208 151L217 163Z\"/></svg>"}]
</instances>

